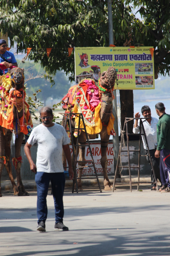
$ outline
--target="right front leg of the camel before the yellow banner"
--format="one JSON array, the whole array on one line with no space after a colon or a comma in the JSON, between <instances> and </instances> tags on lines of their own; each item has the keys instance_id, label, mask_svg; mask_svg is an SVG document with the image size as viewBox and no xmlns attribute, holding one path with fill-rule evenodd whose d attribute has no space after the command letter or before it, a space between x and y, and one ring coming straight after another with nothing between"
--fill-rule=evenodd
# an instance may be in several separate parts
<instances>
[{"instance_id":1,"label":"right front leg of the camel before the yellow banner","mask_svg":"<svg viewBox=\"0 0 170 256\"><path fill-rule=\"evenodd\" d=\"M107 167L108 167L107 148L108 148L110 135L108 135L106 126L103 126L102 131L100 132L100 137L101 137L101 153L102 153L100 162L103 168L104 186L105 186L105 190L111 190L112 186L109 181L108 172L107 172Z\"/></svg>"}]
</instances>

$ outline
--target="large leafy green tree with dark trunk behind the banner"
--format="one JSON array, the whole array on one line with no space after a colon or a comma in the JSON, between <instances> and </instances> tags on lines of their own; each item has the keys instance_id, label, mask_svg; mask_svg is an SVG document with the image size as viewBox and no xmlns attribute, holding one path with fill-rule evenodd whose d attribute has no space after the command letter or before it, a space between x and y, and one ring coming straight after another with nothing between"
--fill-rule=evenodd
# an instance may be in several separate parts
<instances>
[{"instance_id":1,"label":"large leafy green tree with dark trunk behind the banner","mask_svg":"<svg viewBox=\"0 0 170 256\"><path fill-rule=\"evenodd\" d=\"M32 47L29 58L41 62L48 78L62 69L74 80L74 55L67 57L67 47L109 46L105 0L0 0L0 6L0 31L8 33L11 45L17 42L17 51ZM143 21L133 14L133 6ZM169 14L169 0L113 0L115 45L153 46L156 74L169 74ZM133 91L120 90L120 100L123 125L125 116L133 117Z\"/></svg>"}]
</instances>

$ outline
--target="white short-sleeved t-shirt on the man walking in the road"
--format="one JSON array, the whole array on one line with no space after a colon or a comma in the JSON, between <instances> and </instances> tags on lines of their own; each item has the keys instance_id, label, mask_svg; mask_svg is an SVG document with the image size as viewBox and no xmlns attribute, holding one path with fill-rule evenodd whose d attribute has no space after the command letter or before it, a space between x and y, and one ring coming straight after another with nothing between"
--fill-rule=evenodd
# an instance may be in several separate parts
<instances>
[{"instance_id":1,"label":"white short-sleeved t-shirt on the man walking in the road","mask_svg":"<svg viewBox=\"0 0 170 256\"><path fill-rule=\"evenodd\" d=\"M67 145L70 140L62 125L46 127L43 124L33 129L28 139L28 144L37 143L37 172L64 172L62 166L62 145Z\"/></svg>"}]
</instances>

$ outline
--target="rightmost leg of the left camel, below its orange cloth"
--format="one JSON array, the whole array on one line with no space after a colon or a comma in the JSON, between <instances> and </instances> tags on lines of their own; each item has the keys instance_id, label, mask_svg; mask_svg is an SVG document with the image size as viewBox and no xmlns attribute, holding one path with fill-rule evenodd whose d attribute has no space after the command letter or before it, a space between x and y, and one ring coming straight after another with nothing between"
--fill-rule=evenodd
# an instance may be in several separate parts
<instances>
[{"instance_id":1,"label":"rightmost leg of the left camel, below its orange cloth","mask_svg":"<svg viewBox=\"0 0 170 256\"><path fill-rule=\"evenodd\" d=\"M15 157L20 157L21 145L23 142L23 133L18 133L18 137L15 135ZM18 188L18 196L21 195L29 195L28 192L24 189L24 185L21 180L21 162L17 162L16 166L16 175L17 175L17 188Z\"/></svg>"}]
</instances>

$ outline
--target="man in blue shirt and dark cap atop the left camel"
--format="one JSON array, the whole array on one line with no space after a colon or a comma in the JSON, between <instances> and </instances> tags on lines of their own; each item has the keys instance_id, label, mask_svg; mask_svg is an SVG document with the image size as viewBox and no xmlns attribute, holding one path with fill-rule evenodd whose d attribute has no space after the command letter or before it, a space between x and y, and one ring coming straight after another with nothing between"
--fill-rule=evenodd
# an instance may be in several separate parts
<instances>
[{"instance_id":1,"label":"man in blue shirt and dark cap atop the left camel","mask_svg":"<svg viewBox=\"0 0 170 256\"><path fill-rule=\"evenodd\" d=\"M4 39L0 39L0 63L6 66L5 73L11 66L18 67L14 53L7 51L7 44ZM0 76L3 75L3 70L0 70Z\"/></svg>"}]
</instances>

